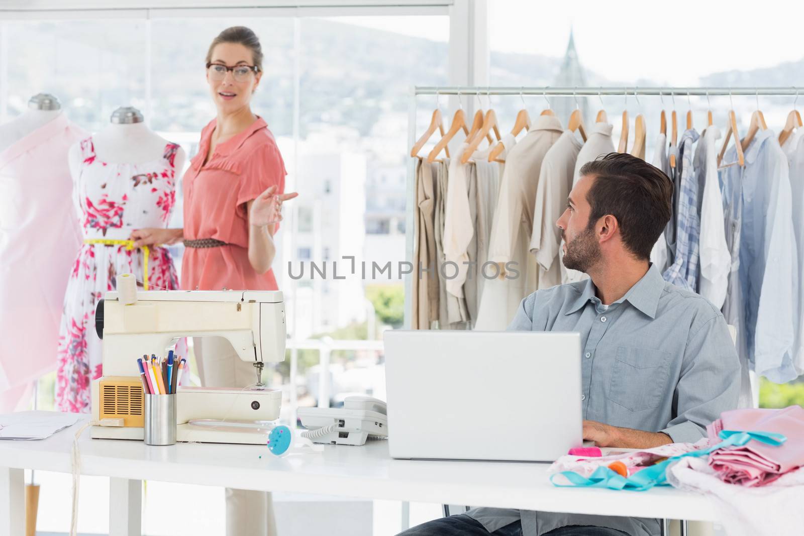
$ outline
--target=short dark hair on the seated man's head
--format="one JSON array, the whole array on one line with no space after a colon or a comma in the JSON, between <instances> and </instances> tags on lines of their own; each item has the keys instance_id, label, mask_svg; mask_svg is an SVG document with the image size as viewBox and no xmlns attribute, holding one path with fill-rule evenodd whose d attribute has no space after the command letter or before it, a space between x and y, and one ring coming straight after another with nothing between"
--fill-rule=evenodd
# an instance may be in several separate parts
<instances>
[{"instance_id":1,"label":"short dark hair on the seated man's head","mask_svg":"<svg viewBox=\"0 0 804 536\"><path fill-rule=\"evenodd\" d=\"M650 250L672 215L673 182L667 174L630 154L609 153L586 162L580 175L595 177L586 194L592 207L589 227L613 215L626 248L640 260L650 259Z\"/></svg>"}]
</instances>

